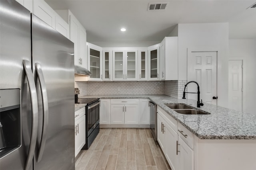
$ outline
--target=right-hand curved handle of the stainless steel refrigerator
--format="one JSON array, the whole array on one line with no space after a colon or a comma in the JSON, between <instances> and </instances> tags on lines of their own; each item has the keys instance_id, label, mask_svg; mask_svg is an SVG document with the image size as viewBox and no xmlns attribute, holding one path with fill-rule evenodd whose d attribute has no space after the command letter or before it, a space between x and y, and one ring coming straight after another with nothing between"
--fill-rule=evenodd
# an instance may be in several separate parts
<instances>
[{"instance_id":1,"label":"right-hand curved handle of the stainless steel refrigerator","mask_svg":"<svg viewBox=\"0 0 256 170\"><path fill-rule=\"evenodd\" d=\"M39 63L36 63L35 65L36 65L36 73L40 83L40 88L42 93L42 102L43 102L43 127L42 127L42 136L41 136L40 147L39 147L38 157L37 157L37 162L40 162L44 153L44 147L46 143L46 131L48 128L49 108L48 108L46 84L44 81L44 74L42 72L41 65Z\"/></svg>"}]
</instances>

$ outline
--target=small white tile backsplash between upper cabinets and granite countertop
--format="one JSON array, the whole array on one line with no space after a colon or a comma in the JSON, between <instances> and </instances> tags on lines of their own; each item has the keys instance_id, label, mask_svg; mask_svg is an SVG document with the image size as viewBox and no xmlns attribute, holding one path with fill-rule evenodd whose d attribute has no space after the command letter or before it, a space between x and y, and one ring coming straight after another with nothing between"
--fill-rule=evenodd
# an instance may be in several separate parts
<instances>
[{"instance_id":1,"label":"small white tile backsplash between upper cabinets and granite countertop","mask_svg":"<svg viewBox=\"0 0 256 170\"><path fill-rule=\"evenodd\" d=\"M125 95L125 94L165 94L182 98L186 80L144 81L144 82L75 82L80 96L85 95Z\"/></svg>"}]
</instances>

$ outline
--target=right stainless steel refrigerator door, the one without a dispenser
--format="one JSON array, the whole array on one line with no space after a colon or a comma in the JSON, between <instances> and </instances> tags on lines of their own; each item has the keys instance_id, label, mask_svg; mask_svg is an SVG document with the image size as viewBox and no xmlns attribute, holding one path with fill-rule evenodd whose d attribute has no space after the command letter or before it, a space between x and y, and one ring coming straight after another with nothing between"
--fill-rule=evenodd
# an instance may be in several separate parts
<instances>
[{"instance_id":1,"label":"right stainless steel refrigerator door, the one without a dispenser","mask_svg":"<svg viewBox=\"0 0 256 170\"><path fill-rule=\"evenodd\" d=\"M74 170L74 43L33 14L32 60L39 117L34 170Z\"/></svg>"}]
</instances>

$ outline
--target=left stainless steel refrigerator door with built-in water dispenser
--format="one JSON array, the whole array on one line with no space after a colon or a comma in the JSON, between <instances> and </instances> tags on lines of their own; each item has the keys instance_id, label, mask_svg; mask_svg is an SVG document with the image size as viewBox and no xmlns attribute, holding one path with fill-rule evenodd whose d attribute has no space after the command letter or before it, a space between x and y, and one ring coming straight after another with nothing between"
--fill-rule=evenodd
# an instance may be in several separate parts
<instances>
[{"instance_id":1,"label":"left stainless steel refrigerator door with built-in water dispenser","mask_svg":"<svg viewBox=\"0 0 256 170\"><path fill-rule=\"evenodd\" d=\"M15 100L21 101L20 115L16 115L15 112L13 116L13 113L9 112L8 117L10 116L11 121L21 120L19 124L22 127L22 131L19 132L20 147L0 158L0 170L24 170L30 146L32 112L23 60L28 61L27 66L30 68L30 12L15 0L0 0L0 89L18 89L17 96L20 97ZM32 75L31 68L30 73ZM4 121L2 114L6 113L0 114L0 121ZM32 169L32 160L29 168Z\"/></svg>"}]
</instances>

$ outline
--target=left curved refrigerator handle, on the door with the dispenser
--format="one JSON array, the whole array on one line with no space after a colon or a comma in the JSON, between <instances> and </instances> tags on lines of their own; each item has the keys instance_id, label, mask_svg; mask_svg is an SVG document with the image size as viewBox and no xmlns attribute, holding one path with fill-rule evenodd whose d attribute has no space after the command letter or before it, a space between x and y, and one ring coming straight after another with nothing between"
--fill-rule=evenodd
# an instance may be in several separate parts
<instances>
[{"instance_id":1,"label":"left curved refrigerator handle, on the door with the dispenser","mask_svg":"<svg viewBox=\"0 0 256 170\"><path fill-rule=\"evenodd\" d=\"M31 98L31 107L32 107L31 139L30 139L30 146L28 149L28 156L27 156L26 165L25 165L25 170L28 170L32 164L32 159L33 159L35 147L36 147L36 137L37 137L37 129L38 129L38 100L37 100L37 94L36 94L36 85L34 82L30 61L23 60L23 68L25 70L27 80L28 80L28 86L29 86L30 98Z\"/></svg>"}]
</instances>

